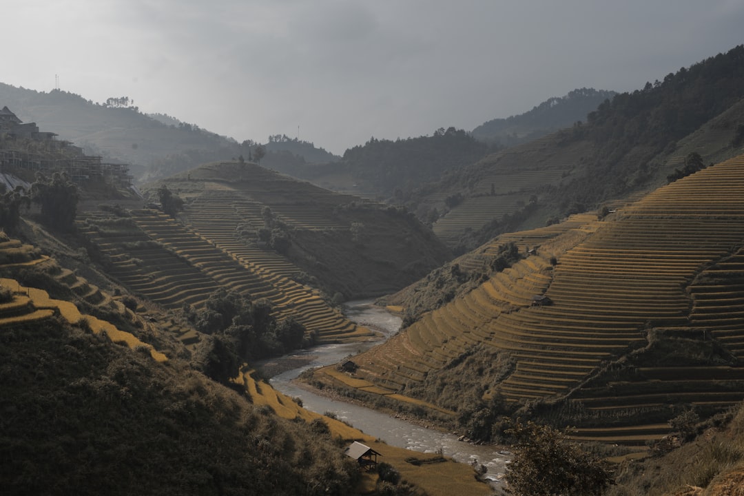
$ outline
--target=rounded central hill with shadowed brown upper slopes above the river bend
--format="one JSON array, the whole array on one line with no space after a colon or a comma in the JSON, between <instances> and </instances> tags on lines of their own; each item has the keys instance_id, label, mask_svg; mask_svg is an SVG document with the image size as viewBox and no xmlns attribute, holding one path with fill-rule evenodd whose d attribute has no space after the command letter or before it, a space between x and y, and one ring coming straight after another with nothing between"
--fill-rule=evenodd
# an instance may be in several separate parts
<instances>
[{"instance_id":1,"label":"rounded central hill with shadowed brown upper slopes above the river bend","mask_svg":"<svg viewBox=\"0 0 744 496\"><path fill-rule=\"evenodd\" d=\"M395 291L450 256L405 210L323 190L256 164L207 164L144 190L155 198L162 184L185 200L181 217L189 228L272 254L289 265L289 277L330 296ZM220 233L212 233L217 227L212 216L219 216Z\"/></svg>"}]
</instances>

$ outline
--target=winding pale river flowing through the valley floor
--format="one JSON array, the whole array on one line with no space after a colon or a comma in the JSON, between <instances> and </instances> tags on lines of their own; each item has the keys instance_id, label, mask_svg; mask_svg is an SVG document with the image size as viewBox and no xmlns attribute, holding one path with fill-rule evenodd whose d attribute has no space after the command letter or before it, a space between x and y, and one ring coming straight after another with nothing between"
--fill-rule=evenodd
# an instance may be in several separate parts
<instances>
[{"instance_id":1,"label":"winding pale river flowing through the valley floor","mask_svg":"<svg viewBox=\"0 0 744 496\"><path fill-rule=\"evenodd\" d=\"M504 476L504 463L507 460L507 453L501 451L500 448L458 441L458 437L454 434L445 434L414 425L371 408L319 396L292 384L292 380L304 370L336 364L348 355L379 344L380 341L384 341L400 329L400 318L391 315L383 308L374 306L372 300L352 301L344 307L347 318L381 332L384 338L366 343L328 344L287 355L286 358L302 359L305 364L272 377L270 379L272 386L287 396L301 399L304 408L316 413L333 412L339 420L344 420L365 434L382 439L389 445L423 453L442 451L445 456L452 457L458 462L483 465L487 468L485 477L491 481L493 486L500 486L501 477Z\"/></svg>"}]
</instances>

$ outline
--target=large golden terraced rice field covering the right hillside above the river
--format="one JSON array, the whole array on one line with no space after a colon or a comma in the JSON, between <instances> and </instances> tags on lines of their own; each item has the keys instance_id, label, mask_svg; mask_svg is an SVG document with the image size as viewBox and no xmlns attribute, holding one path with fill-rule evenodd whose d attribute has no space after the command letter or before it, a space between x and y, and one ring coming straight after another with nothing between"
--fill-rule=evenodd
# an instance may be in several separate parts
<instances>
[{"instance_id":1,"label":"large golden terraced rice field covering the right hillside above the river","mask_svg":"<svg viewBox=\"0 0 744 496\"><path fill-rule=\"evenodd\" d=\"M494 247L513 240L539 245L538 254L371 350L359 358L359 373L394 388L483 341L516 358L516 371L492 391L510 402L573 395L590 416L622 418L660 405L709 412L744 399L744 376L700 380L712 373L705 367L673 379L647 371L654 379L615 384L614 393L574 393L593 371L642 346L652 328L698 329L743 355L744 157L656 190L612 220L593 219L501 236ZM555 268L549 257L559 260ZM535 294L552 304L530 306ZM630 442L668 431L632 427L605 437Z\"/></svg>"}]
</instances>

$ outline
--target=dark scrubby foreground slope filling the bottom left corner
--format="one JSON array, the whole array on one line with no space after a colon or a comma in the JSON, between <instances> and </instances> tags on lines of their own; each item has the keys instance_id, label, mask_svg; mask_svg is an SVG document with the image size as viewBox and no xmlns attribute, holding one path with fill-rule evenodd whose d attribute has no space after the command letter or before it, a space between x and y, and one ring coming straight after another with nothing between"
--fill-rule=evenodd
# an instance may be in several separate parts
<instances>
[{"instance_id":1,"label":"dark scrubby foreground slope filling the bottom left corner","mask_svg":"<svg viewBox=\"0 0 744 496\"><path fill-rule=\"evenodd\" d=\"M341 495L353 486L355 468L330 439L178 361L158 364L54 321L3 329L0 355L6 494L292 495L318 483Z\"/></svg>"}]
</instances>

